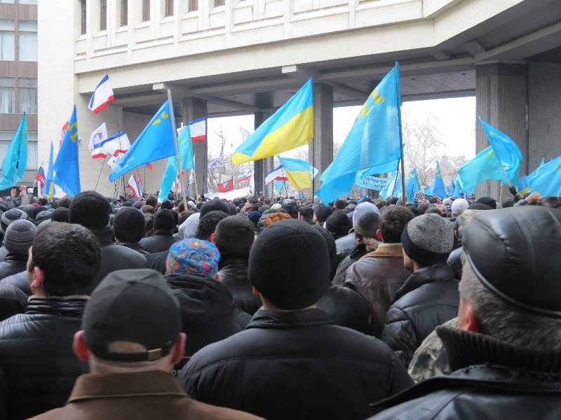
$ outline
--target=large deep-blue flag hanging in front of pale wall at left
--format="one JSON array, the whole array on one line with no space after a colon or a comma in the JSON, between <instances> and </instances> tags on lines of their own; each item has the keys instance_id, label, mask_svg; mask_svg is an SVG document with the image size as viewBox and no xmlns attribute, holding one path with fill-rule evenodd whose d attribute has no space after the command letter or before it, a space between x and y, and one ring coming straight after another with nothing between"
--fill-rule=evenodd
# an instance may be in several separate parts
<instances>
[{"instance_id":1,"label":"large deep-blue flag hanging in front of pale wall at left","mask_svg":"<svg viewBox=\"0 0 561 420\"><path fill-rule=\"evenodd\" d=\"M53 165L55 184L70 197L80 193L80 165L78 158L78 120L76 119L76 105L72 116L68 120L65 138L62 139L57 160Z\"/></svg>"}]
</instances>

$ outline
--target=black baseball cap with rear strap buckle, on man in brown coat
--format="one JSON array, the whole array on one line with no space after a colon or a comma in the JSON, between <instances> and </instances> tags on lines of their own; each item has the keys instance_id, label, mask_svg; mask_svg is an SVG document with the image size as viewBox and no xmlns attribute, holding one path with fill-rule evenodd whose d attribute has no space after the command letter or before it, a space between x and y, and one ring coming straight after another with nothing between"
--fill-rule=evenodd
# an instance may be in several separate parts
<instances>
[{"instance_id":1,"label":"black baseball cap with rear strap buckle, on man in brown coat","mask_svg":"<svg viewBox=\"0 0 561 420\"><path fill-rule=\"evenodd\" d=\"M133 363L166 356L180 335L177 300L153 269L107 274L92 293L82 318L88 349L102 360ZM133 342L146 351L116 353L111 343Z\"/></svg>"}]
</instances>

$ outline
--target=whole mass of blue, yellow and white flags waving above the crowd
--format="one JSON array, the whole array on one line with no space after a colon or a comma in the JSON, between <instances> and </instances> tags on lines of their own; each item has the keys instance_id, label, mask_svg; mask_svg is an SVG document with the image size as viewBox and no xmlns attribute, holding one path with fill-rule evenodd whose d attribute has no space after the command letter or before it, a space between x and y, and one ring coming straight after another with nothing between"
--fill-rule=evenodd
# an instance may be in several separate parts
<instances>
[{"instance_id":1,"label":"whole mass of blue, yellow and white flags waving above the crowd","mask_svg":"<svg viewBox=\"0 0 561 420\"><path fill-rule=\"evenodd\" d=\"M104 76L95 87L88 109L96 114L100 113L114 99L109 76ZM168 163L161 182L160 200L167 198L167 192L174 185L176 190L182 188L180 180L186 170L191 169L190 178L193 179L195 163L191 143L206 139L206 120L198 118L176 130L171 106L173 105L169 101L163 102L133 144L130 144L124 131L109 136L105 123L91 133L88 144L91 157L107 162L111 169L109 181L116 181L141 165L151 167L151 162L166 158ZM517 186L522 194L532 191L542 195L561 193L561 156L547 163L542 160L534 172L520 177L522 153L518 146L507 134L492 127L482 118L478 118L478 121L489 140L489 147L459 168L458 176L452 179L452 186L445 186L439 162L431 162L425 168L425 172L434 172L433 183L424 189L425 195L459 197L462 193L471 193L475 187L487 180L498 180L508 186ZM318 169L304 160L280 155L309 144L313 137L311 78L255 132L250 134L242 127L240 131L243 141L231 157L233 165L276 156L280 165L266 174L265 184L273 182L277 192L287 182L292 183L299 191L313 188L313 179L317 176ZM53 158L51 141L47 172L45 174L41 165L36 181L39 182L42 194L53 197L56 184L65 193L74 196L81 191L76 106L62 127L59 146L58 155ZM323 202L332 202L349 195L356 175L360 172L363 176L389 174L390 181L381 191L381 196L403 196L412 200L414 195L421 191L417 169L405 173L402 182L402 161L400 77L399 65L396 63L360 109L336 158L320 175L321 186L315 191L315 195ZM2 162L0 190L10 188L22 180L26 163L27 120L24 113ZM208 169L224 167L223 156L208 162ZM236 184L245 181L250 183L251 190L255 189L253 169L238 179L231 178L219 183L217 187L219 192L229 192L235 189ZM194 182L196 183L196 179ZM142 179L139 174L130 175L128 186L135 197L142 195Z\"/></svg>"}]
</instances>

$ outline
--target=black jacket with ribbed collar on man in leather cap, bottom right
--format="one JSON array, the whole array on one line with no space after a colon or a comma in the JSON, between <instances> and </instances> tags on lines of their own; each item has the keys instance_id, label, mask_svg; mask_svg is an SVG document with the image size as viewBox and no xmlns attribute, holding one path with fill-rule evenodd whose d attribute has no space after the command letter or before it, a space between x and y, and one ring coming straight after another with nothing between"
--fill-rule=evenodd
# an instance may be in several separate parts
<instances>
[{"instance_id":1,"label":"black jacket with ribbed collar on man in leather cap, bottom right","mask_svg":"<svg viewBox=\"0 0 561 420\"><path fill-rule=\"evenodd\" d=\"M372 419L561 419L561 356L445 325L438 335L457 369L375 404Z\"/></svg>"}]
</instances>

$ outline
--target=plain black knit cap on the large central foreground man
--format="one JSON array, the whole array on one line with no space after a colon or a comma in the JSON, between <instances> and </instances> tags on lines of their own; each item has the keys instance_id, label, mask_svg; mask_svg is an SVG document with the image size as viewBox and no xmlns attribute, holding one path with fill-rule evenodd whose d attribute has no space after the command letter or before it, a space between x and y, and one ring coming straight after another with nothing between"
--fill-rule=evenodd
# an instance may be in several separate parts
<instances>
[{"instance_id":1,"label":"plain black knit cap on the large central foreground man","mask_svg":"<svg viewBox=\"0 0 561 420\"><path fill-rule=\"evenodd\" d=\"M273 223L255 239L249 278L266 300L281 309L304 309L329 287L325 239L309 223Z\"/></svg>"}]
</instances>

